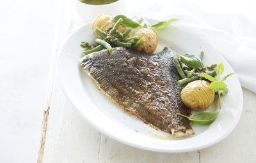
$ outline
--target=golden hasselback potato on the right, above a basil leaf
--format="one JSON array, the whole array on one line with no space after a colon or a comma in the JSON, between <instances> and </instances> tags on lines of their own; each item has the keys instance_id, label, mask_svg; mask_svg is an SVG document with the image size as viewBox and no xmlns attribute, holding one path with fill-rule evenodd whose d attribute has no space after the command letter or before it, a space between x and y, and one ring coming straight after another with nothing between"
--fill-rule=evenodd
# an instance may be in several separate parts
<instances>
[{"instance_id":1,"label":"golden hasselback potato on the right, above a basil leaf","mask_svg":"<svg viewBox=\"0 0 256 163\"><path fill-rule=\"evenodd\" d=\"M206 110L213 103L215 97L214 90L209 87L209 84L205 80L188 83L180 94L182 102L192 110Z\"/></svg>"}]
</instances>

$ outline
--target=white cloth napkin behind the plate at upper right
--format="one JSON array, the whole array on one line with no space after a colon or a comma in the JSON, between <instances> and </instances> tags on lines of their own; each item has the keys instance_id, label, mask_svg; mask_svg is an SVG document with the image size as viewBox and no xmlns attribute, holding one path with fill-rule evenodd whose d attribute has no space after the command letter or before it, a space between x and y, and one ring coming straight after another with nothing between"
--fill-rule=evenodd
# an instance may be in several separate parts
<instances>
[{"instance_id":1,"label":"white cloth napkin behind the plate at upper right","mask_svg":"<svg viewBox=\"0 0 256 163\"><path fill-rule=\"evenodd\" d=\"M256 93L256 24L245 15L236 13L221 13L221 11L202 10L204 1L126 1L124 13L139 17L168 20L179 18L175 22L177 27L189 29L205 36L234 69L242 87ZM136 3L136 5L134 5ZM221 4L222 1L221 1ZM206 5L206 4L205 4ZM220 7L220 5L214 4ZM239 8L239 4L236 4ZM204 6L205 8L207 6ZM208 6L209 7L209 6ZM222 6L226 10L225 6ZM247 8L250 7L248 4ZM70 8L70 6L68 6ZM214 6L213 6L214 8ZM211 9L211 8L207 8ZM235 8L233 8L235 9ZM215 11L215 12L214 12ZM243 10L244 11L244 10ZM254 10L253 10L254 11ZM241 12L241 11L240 11ZM250 14L250 12L248 12ZM103 13L104 14L104 13ZM79 25L84 24L76 13L70 10L70 25L67 32L72 32ZM252 18L252 17L251 17Z\"/></svg>"}]
</instances>

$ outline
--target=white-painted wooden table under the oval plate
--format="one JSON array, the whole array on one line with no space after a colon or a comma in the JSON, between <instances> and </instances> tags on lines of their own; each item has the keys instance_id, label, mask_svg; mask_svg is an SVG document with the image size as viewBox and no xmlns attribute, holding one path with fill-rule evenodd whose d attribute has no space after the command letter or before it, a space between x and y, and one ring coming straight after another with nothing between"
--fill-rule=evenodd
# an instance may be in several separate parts
<instances>
[{"instance_id":1,"label":"white-painted wooden table under the oval plate","mask_svg":"<svg viewBox=\"0 0 256 163\"><path fill-rule=\"evenodd\" d=\"M256 94L246 89L243 89L243 114L236 129L220 143L195 152L140 150L108 138L87 124L68 102L58 83L58 50L70 30L70 15L68 17L65 6L68 5L59 5L47 94L49 109L45 110L45 117L49 116L43 127L38 162L256 162Z\"/></svg>"}]
</instances>

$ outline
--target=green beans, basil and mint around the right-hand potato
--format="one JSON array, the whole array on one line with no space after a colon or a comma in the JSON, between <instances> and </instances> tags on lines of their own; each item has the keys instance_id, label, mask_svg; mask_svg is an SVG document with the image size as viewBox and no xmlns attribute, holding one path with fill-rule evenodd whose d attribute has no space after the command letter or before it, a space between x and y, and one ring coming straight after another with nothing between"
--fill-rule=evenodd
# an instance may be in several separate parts
<instances>
[{"instance_id":1,"label":"green beans, basil and mint around the right-hand potato","mask_svg":"<svg viewBox=\"0 0 256 163\"><path fill-rule=\"evenodd\" d=\"M204 64L202 64L203 57L204 52L200 53L200 58L196 57L195 55L189 54L176 55L173 59L174 64L176 66L178 73L180 74L180 77L182 78L182 80L177 81L177 83L179 86L181 86L194 80L210 81L209 87L211 87L211 89L213 89L214 92L218 95L219 106L221 108L221 96L227 94L228 92L227 85L224 81L227 80L227 78L232 76L234 73L227 74L224 78L222 78L222 80L218 80L217 78L220 78L220 76L223 74L224 65L220 63L218 65L212 64L208 67L204 66ZM180 67L179 60L182 64L184 64L182 67ZM218 76L217 78L214 78L216 74ZM186 75L187 78L184 78L184 75ZM194 115L191 115L189 117L186 115L182 115L180 113L177 113L177 115L186 117L192 122L207 125L211 124L218 117L218 113L219 112L200 112L195 113Z\"/></svg>"}]
</instances>

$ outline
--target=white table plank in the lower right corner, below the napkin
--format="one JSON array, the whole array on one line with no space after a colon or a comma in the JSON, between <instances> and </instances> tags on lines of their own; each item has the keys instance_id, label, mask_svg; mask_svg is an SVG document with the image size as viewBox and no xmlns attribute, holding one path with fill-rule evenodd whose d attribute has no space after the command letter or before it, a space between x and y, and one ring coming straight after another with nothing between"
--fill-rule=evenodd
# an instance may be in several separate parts
<instances>
[{"instance_id":1,"label":"white table plank in the lower right corner, below the napkin","mask_svg":"<svg viewBox=\"0 0 256 163\"><path fill-rule=\"evenodd\" d=\"M256 162L256 94L243 89L243 96L243 113L236 128L217 145L201 150L201 162Z\"/></svg>"}]
</instances>

